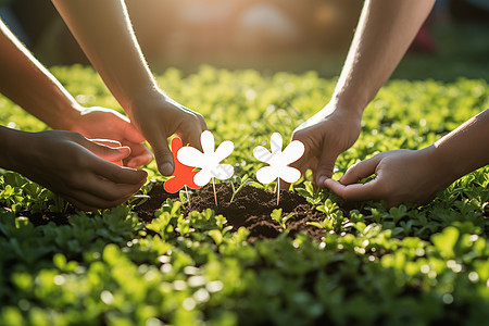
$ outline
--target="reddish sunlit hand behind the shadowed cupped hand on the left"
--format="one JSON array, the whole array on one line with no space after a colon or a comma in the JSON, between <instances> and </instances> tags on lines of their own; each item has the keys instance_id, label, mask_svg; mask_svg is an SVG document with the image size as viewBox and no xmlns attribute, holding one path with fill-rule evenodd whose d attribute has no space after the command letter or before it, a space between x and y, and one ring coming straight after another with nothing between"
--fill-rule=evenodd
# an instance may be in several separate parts
<instances>
[{"instance_id":1,"label":"reddish sunlit hand behind the shadowed cupped hand on the left","mask_svg":"<svg viewBox=\"0 0 489 326\"><path fill-rule=\"evenodd\" d=\"M80 116L71 126L71 131L84 135L88 139L111 139L130 148L130 154L123 160L128 167L139 167L148 164L153 155L143 146L146 139L121 113L105 108L87 108L80 110ZM114 147L109 142L103 145ZM116 146L115 146L116 147ZM114 163L114 162L113 162Z\"/></svg>"}]
</instances>

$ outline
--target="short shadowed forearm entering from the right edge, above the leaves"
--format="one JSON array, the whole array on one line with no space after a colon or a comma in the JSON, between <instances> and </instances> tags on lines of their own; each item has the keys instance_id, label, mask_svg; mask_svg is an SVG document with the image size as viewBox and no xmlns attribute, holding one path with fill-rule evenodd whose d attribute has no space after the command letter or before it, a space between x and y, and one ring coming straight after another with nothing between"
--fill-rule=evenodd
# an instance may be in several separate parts
<instances>
[{"instance_id":1,"label":"short shadowed forearm entering from the right edge, above the leaves","mask_svg":"<svg viewBox=\"0 0 489 326\"><path fill-rule=\"evenodd\" d=\"M489 109L431 147L432 160L447 183L489 164Z\"/></svg>"}]
</instances>

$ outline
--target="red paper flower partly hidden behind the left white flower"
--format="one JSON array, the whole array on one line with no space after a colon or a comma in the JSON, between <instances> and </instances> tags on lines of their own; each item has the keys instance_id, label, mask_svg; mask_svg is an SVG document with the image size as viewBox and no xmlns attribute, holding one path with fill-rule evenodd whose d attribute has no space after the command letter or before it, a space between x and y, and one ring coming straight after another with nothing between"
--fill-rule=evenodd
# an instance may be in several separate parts
<instances>
[{"instance_id":1,"label":"red paper flower partly hidden behind the left white flower","mask_svg":"<svg viewBox=\"0 0 489 326\"><path fill-rule=\"evenodd\" d=\"M175 171L173 172L172 178L166 180L164 188L167 192L177 192L184 186L188 186L192 189L199 189L200 186L197 186L193 183L193 176L199 173L199 171L193 171L195 166L188 166L181 164L177 159L177 152L183 147L181 139L175 137L172 139L172 153L173 161L175 162Z\"/></svg>"}]
</instances>

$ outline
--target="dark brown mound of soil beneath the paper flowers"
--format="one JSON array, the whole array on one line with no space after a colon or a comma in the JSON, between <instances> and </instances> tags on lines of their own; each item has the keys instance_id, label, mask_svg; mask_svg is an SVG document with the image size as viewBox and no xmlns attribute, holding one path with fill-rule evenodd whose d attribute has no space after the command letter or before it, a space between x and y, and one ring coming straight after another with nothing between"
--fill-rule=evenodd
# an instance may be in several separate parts
<instances>
[{"instance_id":1,"label":"dark brown mound of soil beneath the paper flowers","mask_svg":"<svg viewBox=\"0 0 489 326\"><path fill-rule=\"evenodd\" d=\"M315 210L305 198L298 193L281 190L278 206L276 193L252 186L241 188L233 202L230 202L233 189L229 184L217 184L216 193L217 205L214 201L212 185L193 190L190 201L181 208L183 213L201 212L205 209L214 210L216 214L222 214L227 218L228 225L231 225L234 230L241 226L246 227L250 231L249 241L253 242L258 239L275 238L283 231L280 225L271 217L275 209L281 209L283 216L293 214L286 223L291 236L301 233L315 240L325 236L325 230L308 225L308 222L322 222L325 217L324 213ZM154 184L148 195L150 199L134 209L138 216L146 222L154 218L154 211L160 209L167 198L178 199L178 193L166 192L162 183Z\"/></svg>"}]
</instances>

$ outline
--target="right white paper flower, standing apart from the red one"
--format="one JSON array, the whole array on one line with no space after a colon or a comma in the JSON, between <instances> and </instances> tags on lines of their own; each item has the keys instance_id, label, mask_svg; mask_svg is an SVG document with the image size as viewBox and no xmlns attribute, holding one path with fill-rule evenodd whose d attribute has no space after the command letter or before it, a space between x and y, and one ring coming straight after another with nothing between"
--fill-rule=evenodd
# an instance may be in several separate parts
<instances>
[{"instance_id":1,"label":"right white paper flower, standing apart from the red one","mask_svg":"<svg viewBox=\"0 0 489 326\"><path fill-rule=\"evenodd\" d=\"M260 183L269 184L280 178L286 183L292 184L301 177L299 170L288 165L304 154L304 145L299 140L293 140L281 151L283 142L281 135L274 133L269 139L272 152L263 146L254 148L253 156L269 164L269 166L262 167L256 172L256 179Z\"/></svg>"}]
</instances>

